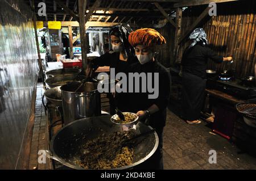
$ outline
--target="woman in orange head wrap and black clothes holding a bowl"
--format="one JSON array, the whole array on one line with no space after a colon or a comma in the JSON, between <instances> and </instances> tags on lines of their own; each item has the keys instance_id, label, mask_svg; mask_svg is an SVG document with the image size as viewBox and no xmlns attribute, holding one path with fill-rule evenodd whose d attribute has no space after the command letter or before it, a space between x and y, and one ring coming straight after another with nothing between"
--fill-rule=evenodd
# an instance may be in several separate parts
<instances>
[{"instance_id":1,"label":"woman in orange head wrap and black clothes holding a bowl","mask_svg":"<svg viewBox=\"0 0 256 181\"><path fill-rule=\"evenodd\" d=\"M166 124L166 109L171 92L171 75L156 58L155 47L166 43L166 40L158 31L151 28L143 28L129 35L129 43L135 48L135 54L139 62L129 66L131 73L146 73L147 83L151 81L147 73L152 73L152 87L158 88L158 97L149 99L152 92L129 92L129 112L135 112L141 121L146 121L152 128L156 129L159 137L158 149L154 155L144 162L139 169L163 169L163 128ZM154 85L154 73L158 73L156 80L159 86ZM156 77L157 78L157 77ZM129 80L130 83L131 80ZM142 91L142 81L140 81ZM148 86L148 85L147 85ZM134 87L134 86L133 86ZM144 87L147 89L147 87Z\"/></svg>"}]
</instances>

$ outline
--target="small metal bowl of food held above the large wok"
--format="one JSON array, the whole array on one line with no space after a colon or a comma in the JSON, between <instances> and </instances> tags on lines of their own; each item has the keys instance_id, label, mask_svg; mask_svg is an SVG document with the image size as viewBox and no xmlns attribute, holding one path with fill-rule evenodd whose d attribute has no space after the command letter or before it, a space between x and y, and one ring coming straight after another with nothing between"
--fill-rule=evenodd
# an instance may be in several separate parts
<instances>
[{"instance_id":1,"label":"small metal bowl of food held above the large wok","mask_svg":"<svg viewBox=\"0 0 256 181\"><path fill-rule=\"evenodd\" d=\"M122 120L117 114L113 115L110 120L112 123L121 125L127 129L133 128L139 121L139 116L133 112L123 112L123 115L125 116L125 120Z\"/></svg>"}]
</instances>

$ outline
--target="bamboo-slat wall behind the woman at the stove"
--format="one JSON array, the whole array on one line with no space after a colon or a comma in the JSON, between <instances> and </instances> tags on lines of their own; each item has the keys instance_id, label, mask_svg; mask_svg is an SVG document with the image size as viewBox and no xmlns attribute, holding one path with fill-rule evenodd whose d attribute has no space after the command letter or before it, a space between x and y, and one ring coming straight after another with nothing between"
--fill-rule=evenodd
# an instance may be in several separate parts
<instances>
[{"instance_id":1,"label":"bamboo-slat wall behind the woman at the stove","mask_svg":"<svg viewBox=\"0 0 256 181\"><path fill-rule=\"evenodd\" d=\"M234 64L215 64L212 61L208 63L208 69L222 71L225 69L234 69L238 77L254 74L254 65L256 63L256 2L238 1L217 4L217 16L208 16L198 27L203 27L207 32L209 46L222 56L232 54ZM189 26L197 19L207 6L189 7L183 12L181 36L188 30ZM172 30L170 29L169 32ZM174 36L168 41L173 41ZM180 45L179 60L181 60L184 49L189 45L184 40ZM165 54L165 53L164 53ZM162 55L164 56L164 55ZM171 64L176 60L171 57Z\"/></svg>"}]
</instances>

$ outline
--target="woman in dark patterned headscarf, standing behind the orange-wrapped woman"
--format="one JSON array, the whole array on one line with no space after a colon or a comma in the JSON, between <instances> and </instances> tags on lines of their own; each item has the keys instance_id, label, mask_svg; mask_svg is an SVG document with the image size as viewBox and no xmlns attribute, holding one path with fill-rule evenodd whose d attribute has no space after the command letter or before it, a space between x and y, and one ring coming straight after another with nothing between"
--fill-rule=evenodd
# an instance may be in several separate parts
<instances>
[{"instance_id":1,"label":"woman in dark patterned headscarf, standing behind the orange-wrapped woman","mask_svg":"<svg viewBox=\"0 0 256 181\"><path fill-rule=\"evenodd\" d=\"M134 48L131 47L128 41L128 37L131 32L131 28L122 24L113 26L110 30L110 39L112 43L112 49L114 53L105 53L102 56L90 61L86 70L86 76L91 77L92 73L97 70L99 66L110 66L115 68L115 75L119 72L125 73L127 66L134 63ZM125 93L115 94L115 98L112 94L109 94L110 113L115 113L115 108L119 110L126 110ZM122 100L122 102L121 102Z\"/></svg>"}]
</instances>

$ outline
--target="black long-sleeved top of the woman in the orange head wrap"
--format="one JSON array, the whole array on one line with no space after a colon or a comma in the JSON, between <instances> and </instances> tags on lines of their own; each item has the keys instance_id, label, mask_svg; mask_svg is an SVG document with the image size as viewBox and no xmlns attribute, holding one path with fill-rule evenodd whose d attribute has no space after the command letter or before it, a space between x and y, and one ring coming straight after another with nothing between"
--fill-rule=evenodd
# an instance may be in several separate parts
<instances>
[{"instance_id":1,"label":"black long-sleeved top of the woman in the orange head wrap","mask_svg":"<svg viewBox=\"0 0 256 181\"><path fill-rule=\"evenodd\" d=\"M154 128L164 127L166 124L166 108L169 103L171 94L171 75L166 68L158 61L148 62L147 64L141 65L135 63L129 66L128 71L130 73L152 73L152 87L155 89L154 85L154 73L159 73L159 96L156 99L148 99L148 95L154 93L139 92L130 93L129 92L129 112L137 113L138 111L147 110L153 104L158 106L159 111L155 112L150 116L150 125ZM148 76L147 76L148 79ZM129 80L131 81L131 80ZM129 87L129 86L128 86ZM141 89L141 86L140 86Z\"/></svg>"}]
</instances>

